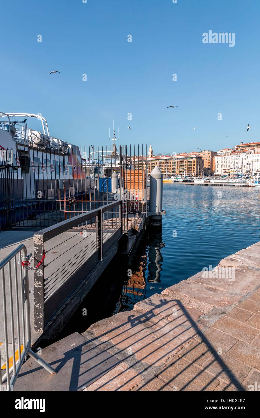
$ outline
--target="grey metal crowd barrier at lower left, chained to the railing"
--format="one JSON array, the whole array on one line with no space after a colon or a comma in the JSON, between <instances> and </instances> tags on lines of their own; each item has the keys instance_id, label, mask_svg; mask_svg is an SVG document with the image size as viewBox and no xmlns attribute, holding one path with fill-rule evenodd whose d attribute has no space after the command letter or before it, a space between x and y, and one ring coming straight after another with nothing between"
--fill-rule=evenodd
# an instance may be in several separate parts
<instances>
[{"instance_id":1,"label":"grey metal crowd barrier at lower left, chained to the railing","mask_svg":"<svg viewBox=\"0 0 260 418\"><path fill-rule=\"evenodd\" d=\"M2 309L0 305L0 391L13 390L13 385L28 355L52 375L56 374L49 364L31 350L29 280L28 270L23 270L23 260L27 258L26 247L21 244L0 262L2 284L0 293L3 293L0 299L0 303L3 301ZM19 278L18 270L20 270ZM8 296L10 311L7 309ZM12 354L11 357L9 352Z\"/></svg>"}]
</instances>

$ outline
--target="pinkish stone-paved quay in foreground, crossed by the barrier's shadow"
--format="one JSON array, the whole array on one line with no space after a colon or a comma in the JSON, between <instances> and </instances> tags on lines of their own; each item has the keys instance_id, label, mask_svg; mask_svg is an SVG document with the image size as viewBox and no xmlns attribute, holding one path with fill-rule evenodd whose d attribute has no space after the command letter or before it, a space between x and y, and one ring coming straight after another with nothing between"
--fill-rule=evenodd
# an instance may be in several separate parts
<instances>
[{"instance_id":1,"label":"pinkish stone-paved quay in foreground, crossed by the barrier's shadow","mask_svg":"<svg viewBox=\"0 0 260 418\"><path fill-rule=\"evenodd\" d=\"M15 390L255 390L259 250L260 242L221 260L217 278L197 273L43 349L58 374L28 360Z\"/></svg>"}]
</instances>

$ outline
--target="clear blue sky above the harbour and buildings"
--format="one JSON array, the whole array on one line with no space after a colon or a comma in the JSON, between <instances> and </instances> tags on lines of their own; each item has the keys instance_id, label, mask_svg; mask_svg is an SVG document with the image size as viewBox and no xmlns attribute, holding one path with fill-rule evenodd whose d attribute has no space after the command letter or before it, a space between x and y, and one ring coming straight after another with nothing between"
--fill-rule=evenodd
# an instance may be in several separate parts
<instances>
[{"instance_id":1,"label":"clear blue sky above the harbour and buildings","mask_svg":"<svg viewBox=\"0 0 260 418\"><path fill-rule=\"evenodd\" d=\"M155 153L260 140L260 2L13 0L0 13L3 112L40 112L51 135L87 147L110 145L113 119L117 145ZM235 46L203 44L210 30Z\"/></svg>"}]
</instances>

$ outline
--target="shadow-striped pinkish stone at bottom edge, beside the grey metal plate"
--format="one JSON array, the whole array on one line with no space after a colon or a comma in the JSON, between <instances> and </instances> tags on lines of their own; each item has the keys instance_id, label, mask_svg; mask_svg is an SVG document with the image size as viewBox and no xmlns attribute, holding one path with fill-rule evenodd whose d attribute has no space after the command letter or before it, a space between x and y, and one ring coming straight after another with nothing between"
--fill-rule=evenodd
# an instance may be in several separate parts
<instances>
[{"instance_id":1,"label":"shadow-striped pinkish stone at bottom edge, beside the grey metal plate","mask_svg":"<svg viewBox=\"0 0 260 418\"><path fill-rule=\"evenodd\" d=\"M131 390L141 380L141 376L133 368L129 368L128 364L122 362L83 391Z\"/></svg>"}]
</instances>

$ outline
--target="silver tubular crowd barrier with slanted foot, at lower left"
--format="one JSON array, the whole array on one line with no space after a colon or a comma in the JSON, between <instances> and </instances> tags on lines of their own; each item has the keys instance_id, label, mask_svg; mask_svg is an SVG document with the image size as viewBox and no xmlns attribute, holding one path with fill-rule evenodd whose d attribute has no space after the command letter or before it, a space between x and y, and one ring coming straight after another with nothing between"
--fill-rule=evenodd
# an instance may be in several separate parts
<instances>
[{"instance_id":1,"label":"silver tubular crowd barrier with slanted foot, at lower left","mask_svg":"<svg viewBox=\"0 0 260 418\"><path fill-rule=\"evenodd\" d=\"M20 280L17 275L17 259L19 254L19 267L20 267ZM29 279L28 270L24 270L22 260L28 257L25 245L21 244L15 250L0 262L1 282L3 292L3 324L4 324L4 344L5 344L5 364L6 372L2 375L2 368L0 368L0 391L5 390L3 383L6 382L6 390L13 390L13 385L19 375L23 362L29 355L35 359L42 367L44 367L52 375L56 374L55 370L50 367L43 359L35 354L31 349L31 329L30 329L30 300L29 300ZM15 308L16 308L16 322L17 322L17 335L15 335L14 326L14 306L13 306L13 283L12 283L12 270L11 261L14 260L14 295L15 295ZM10 324L8 323L7 315L7 302L6 302L6 279L5 279L5 266L8 265L8 282L9 282L9 296L10 296ZM20 298L21 306L19 304L19 286L20 281ZM9 310L8 310L9 311ZM22 315L22 326L20 329L20 311ZM9 367L9 342L8 342L8 330L11 331L11 344L12 344L12 357L13 365ZM23 336L23 350L21 351L21 335ZM16 337L16 338L15 338ZM15 340L18 341L18 359L15 361ZM1 358L1 354L0 354ZM1 366L2 367L2 366ZM12 376L10 377L10 375Z\"/></svg>"}]
</instances>

